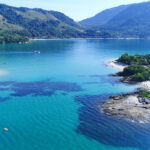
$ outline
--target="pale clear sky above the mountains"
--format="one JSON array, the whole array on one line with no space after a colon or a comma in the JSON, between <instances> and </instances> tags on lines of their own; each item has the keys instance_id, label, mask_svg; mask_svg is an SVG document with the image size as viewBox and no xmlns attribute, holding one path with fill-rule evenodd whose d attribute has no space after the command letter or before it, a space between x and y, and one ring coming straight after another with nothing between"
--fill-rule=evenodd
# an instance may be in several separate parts
<instances>
[{"instance_id":1,"label":"pale clear sky above the mountains","mask_svg":"<svg viewBox=\"0 0 150 150\"><path fill-rule=\"evenodd\" d=\"M147 0L0 0L0 3L19 7L56 10L79 21L94 16L107 8L143 1Z\"/></svg>"}]
</instances>

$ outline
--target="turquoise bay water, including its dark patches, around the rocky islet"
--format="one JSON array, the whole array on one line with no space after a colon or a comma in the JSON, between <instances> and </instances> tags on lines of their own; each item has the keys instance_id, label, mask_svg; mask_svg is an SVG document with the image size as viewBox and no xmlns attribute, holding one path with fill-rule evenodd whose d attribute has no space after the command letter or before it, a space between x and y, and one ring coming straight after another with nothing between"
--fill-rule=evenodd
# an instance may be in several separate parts
<instances>
[{"instance_id":1,"label":"turquoise bay water, including its dark patches, around the rocky islet","mask_svg":"<svg viewBox=\"0 0 150 150\"><path fill-rule=\"evenodd\" d=\"M44 40L1 45L0 150L150 149L149 124L100 111L99 105L110 95L137 88L110 76L118 70L106 65L125 52L150 53L150 41Z\"/></svg>"}]
</instances>

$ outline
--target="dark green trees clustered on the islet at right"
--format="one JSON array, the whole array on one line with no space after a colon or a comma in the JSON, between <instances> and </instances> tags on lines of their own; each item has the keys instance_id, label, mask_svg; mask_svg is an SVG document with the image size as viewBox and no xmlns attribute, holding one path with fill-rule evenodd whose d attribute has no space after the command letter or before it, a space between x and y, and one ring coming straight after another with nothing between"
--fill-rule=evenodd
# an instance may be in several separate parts
<instances>
[{"instance_id":1,"label":"dark green trees clustered on the islet at right","mask_svg":"<svg viewBox=\"0 0 150 150\"><path fill-rule=\"evenodd\" d=\"M130 81L142 82L150 79L150 55L128 55L124 54L118 62L127 64L128 67L118 75L130 77Z\"/></svg>"}]
</instances>

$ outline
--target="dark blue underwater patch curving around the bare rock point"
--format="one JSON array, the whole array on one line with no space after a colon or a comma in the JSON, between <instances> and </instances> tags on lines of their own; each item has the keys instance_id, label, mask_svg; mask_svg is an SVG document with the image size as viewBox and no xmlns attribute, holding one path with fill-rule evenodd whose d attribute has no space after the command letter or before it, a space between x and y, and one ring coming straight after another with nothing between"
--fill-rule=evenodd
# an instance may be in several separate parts
<instances>
[{"instance_id":1,"label":"dark blue underwater patch curving around the bare rock point","mask_svg":"<svg viewBox=\"0 0 150 150\"><path fill-rule=\"evenodd\" d=\"M132 123L100 111L99 105L109 96L83 95L75 97L75 101L82 104L78 110L80 124L77 133L109 146L148 150L150 147L149 124Z\"/></svg>"}]
</instances>

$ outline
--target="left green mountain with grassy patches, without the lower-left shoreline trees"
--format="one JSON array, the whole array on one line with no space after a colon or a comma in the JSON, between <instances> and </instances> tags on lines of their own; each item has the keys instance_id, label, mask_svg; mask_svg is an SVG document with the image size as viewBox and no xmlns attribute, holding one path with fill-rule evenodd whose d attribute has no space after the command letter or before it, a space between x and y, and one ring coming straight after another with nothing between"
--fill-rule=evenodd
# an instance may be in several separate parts
<instances>
[{"instance_id":1,"label":"left green mountain with grassy patches, without the lower-left shoreline trees","mask_svg":"<svg viewBox=\"0 0 150 150\"><path fill-rule=\"evenodd\" d=\"M17 31L28 37L76 37L83 30L81 25L56 11L16 8L0 5L0 29Z\"/></svg>"}]
</instances>

